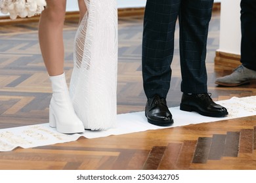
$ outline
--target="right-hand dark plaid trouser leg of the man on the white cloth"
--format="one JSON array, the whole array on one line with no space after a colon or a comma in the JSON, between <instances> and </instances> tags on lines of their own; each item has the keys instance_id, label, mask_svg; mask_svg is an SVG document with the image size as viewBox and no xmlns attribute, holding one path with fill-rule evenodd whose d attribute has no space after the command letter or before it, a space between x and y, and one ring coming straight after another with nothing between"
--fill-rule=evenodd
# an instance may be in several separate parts
<instances>
[{"instance_id":1,"label":"right-hand dark plaid trouser leg of the man on the white cloth","mask_svg":"<svg viewBox=\"0 0 256 183\"><path fill-rule=\"evenodd\" d=\"M206 45L213 0L184 0L179 14L181 91L207 92Z\"/></svg>"}]
</instances>

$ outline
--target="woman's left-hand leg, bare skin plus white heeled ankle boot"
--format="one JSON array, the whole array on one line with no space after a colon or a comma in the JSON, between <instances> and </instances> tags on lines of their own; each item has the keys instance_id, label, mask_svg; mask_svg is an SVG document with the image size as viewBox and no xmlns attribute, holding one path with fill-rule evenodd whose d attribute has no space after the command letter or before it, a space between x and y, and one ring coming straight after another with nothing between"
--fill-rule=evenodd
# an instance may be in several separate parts
<instances>
[{"instance_id":1,"label":"woman's left-hand leg, bare skin plus white heeled ankle boot","mask_svg":"<svg viewBox=\"0 0 256 183\"><path fill-rule=\"evenodd\" d=\"M85 129L75 114L64 73L65 13L66 0L48 0L39 21L39 44L53 89L49 125L60 133L80 133Z\"/></svg>"}]
</instances>

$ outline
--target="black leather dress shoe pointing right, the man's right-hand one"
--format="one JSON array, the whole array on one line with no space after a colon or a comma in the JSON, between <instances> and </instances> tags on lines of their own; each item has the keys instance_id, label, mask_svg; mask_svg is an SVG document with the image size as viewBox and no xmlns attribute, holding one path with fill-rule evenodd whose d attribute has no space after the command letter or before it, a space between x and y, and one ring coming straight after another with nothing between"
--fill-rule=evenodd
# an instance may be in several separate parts
<instances>
[{"instance_id":1,"label":"black leather dress shoe pointing right, the man's right-hand one","mask_svg":"<svg viewBox=\"0 0 256 183\"><path fill-rule=\"evenodd\" d=\"M228 115L228 111L221 105L213 102L210 93L203 94L182 94L181 110L195 111L203 116L223 117Z\"/></svg>"}]
</instances>

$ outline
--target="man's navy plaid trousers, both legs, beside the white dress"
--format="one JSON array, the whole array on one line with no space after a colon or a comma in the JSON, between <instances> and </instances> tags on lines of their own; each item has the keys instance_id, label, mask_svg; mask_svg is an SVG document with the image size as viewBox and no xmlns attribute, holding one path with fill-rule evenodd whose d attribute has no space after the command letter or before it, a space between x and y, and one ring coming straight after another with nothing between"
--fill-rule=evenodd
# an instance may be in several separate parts
<instances>
[{"instance_id":1,"label":"man's navy plaid trousers, both legs, beside the white dress","mask_svg":"<svg viewBox=\"0 0 256 183\"><path fill-rule=\"evenodd\" d=\"M179 17L181 92L207 92L206 44L213 0L147 0L142 39L146 97L167 96L171 82L175 25Z\"/></svg>"}]
</instances>

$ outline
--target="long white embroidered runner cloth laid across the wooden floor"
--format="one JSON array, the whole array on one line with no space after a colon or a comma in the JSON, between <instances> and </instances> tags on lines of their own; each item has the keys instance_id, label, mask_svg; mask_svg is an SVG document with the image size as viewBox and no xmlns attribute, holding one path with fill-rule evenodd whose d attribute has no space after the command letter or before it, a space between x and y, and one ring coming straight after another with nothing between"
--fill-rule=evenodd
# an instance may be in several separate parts
<instances>
[{"instance_id":1,"label":"long white embroidered runner cloth laid across the wooden floor","mask_svg":"<svg viewBox=\"0 0 256 183\"><path fill-rule=\"evenodd\" d=\"M211 118L201 116L196 112L184 112L179 110L179 107L169 108L173 114L173 120L175 122L171 127L200 124L203 122L217 122L219 120L254 116L256 114L256 96L242 98L232 97L231 99L217 101L216 103L226 107L229 115L224 118ZM149 124L144 116L144 111L118 114L116 128L108 129L106 131L85 131L81 134L65 135L58 133L55 128L49 127L49 124L13 127L0 129L0 152L11 151L16 147L32 148L36 146L71 142L76 141L81 136L93 139L107 137L109 135L121 135L161 128L167 127L159 127Z\"/></svg>"}]
</instances>

